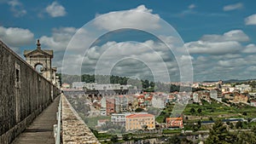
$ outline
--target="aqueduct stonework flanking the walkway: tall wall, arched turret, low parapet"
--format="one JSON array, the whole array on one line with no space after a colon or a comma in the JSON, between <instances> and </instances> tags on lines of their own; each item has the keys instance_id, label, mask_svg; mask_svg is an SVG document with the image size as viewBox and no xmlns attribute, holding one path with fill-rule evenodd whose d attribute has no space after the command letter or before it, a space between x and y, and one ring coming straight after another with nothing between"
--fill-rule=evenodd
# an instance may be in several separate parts
<instances>
[{"instance_id":1,"label":"aqueduct stonework flanking the walkway: tall wall, arched turret, low parapet","mask_svg":"<svg viewBox=\"0 0 256 144\"><path fill-rule=\"evenodd\" d=\"M55 77L56 68L51 66L53 50L41 49L38 40L37 49L25 50L24 56L26 60L0 40L1 144L14 141L61 94L58 78ZM38 65L42 65L39 72L36 71ZM62 143L99 143L73 111L65 95L61 95L61 99L64 102L61 105ZM75 130L77 132L74 133ZM76 135L78 133L83 135Z\"/></svg>"}]
</instances>

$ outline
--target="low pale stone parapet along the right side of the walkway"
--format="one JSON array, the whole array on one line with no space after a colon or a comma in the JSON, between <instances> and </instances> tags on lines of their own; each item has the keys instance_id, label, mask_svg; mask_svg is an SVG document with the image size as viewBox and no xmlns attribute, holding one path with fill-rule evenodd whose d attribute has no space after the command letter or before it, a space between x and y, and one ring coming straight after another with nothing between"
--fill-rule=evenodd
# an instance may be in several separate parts
<instances>
[{"instance_id":1,"label":"low pale stone parapet along the right side of the walkway","mask_svg":"<svg viewBox=\"0 0 256 144\"><path fill-rule=\"evenodd\" d=\"M63 144L99 144L100 142L96 139L96 136L84 124L84 121L67 101L65 95L61 95L61 99Z\"/></svg>"}]
</instances>

